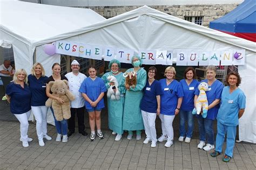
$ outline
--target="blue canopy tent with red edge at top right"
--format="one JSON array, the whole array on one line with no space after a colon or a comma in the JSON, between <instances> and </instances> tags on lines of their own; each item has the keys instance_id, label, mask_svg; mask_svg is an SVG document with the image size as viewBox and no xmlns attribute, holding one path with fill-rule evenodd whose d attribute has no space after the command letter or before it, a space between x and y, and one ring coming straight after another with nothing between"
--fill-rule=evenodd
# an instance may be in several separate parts
<instances>
[{"instance_id":1,"label":"blue canopy tent with red edge at top right","mask_svg":"<svg viewBox=\"0 0 256 170\"><path fill-rule=\"evenodd\" d=\"M256 42L256 1L245 0L227 15L210 22L210 28Z\"/></svg>"}]
</instances>

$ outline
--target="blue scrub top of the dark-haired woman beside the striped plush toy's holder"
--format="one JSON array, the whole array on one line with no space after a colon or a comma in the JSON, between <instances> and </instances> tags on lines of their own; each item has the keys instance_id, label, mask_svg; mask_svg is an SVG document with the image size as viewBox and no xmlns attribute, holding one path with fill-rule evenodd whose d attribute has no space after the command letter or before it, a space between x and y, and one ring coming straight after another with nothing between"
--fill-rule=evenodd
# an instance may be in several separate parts
<instances>
[{"instance_id":1,"label":"blue scrub top of the dark-haired woman beside the striped plush toy's holder","mask_svg":"<svg viewBox=\"0 0 256 170\"><path fill-rule=\"evenodd\" d=\"M194 92L198 88L199 82L197 80L192 80L188 86L186 80L182 79L179 83L181 84L184 94L180 110L192 111L194 109Z\"/></svg>"}]
</instances>

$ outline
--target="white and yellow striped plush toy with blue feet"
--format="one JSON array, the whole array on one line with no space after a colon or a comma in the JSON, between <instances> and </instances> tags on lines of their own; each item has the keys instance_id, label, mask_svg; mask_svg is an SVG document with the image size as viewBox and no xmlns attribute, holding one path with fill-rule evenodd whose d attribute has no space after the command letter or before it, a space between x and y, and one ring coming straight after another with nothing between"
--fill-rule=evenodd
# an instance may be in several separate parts
<instances>
[{"instance_id":1,"label":"white and yellow striped plush toy with blue feet","mask_svg":"<svg viewBox=\"0 0 256 170\"><path fill-rule=\"evenodd\" d=\"M192 114L200 114L201 108L203 107L203 113L202 117L207 117L207 111L208 111L208 101L205 91L208 90L208 84L206 82L201 82L198 86L198 89L200 90L200 93L198 95L197 101L196 101L196 108L193 109Z\"/></svg>"}]
</instances>

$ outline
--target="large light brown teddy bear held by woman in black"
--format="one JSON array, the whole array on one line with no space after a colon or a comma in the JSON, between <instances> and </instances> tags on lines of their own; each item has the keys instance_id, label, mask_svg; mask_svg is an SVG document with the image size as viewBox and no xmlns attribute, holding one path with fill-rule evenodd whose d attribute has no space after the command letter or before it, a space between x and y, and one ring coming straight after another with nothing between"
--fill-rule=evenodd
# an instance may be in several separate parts
<instances>
[{"instance_id":1,"label":"large light brown teddy bear held by woman in black","mask_svg":"<svg viewBox=\"0 0 256 170\"><path fill-rule=\"evenodd\" d=\"M75 96L73 96L68 89L68 81L50 81L49 86L51 88L52 95L62 98L64 103L60 104L56 99L48 98L48 100L45 102L46 107L52 107L57 121L69 119L71 117L70 101L75 100Z\"/></svg>"}]
</instances>

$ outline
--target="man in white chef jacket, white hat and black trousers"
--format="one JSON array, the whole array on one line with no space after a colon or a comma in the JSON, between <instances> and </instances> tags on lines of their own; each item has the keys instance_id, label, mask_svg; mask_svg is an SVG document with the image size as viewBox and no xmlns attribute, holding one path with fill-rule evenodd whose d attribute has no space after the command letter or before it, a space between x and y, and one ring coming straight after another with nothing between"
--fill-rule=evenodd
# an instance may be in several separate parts
<instances>
[{"instance_id":1,"label":"man in white chef jacket, white hat and black trousers","mask_svg":"<svg viewBox=\"0 0 256 170\"><path fill-rule=\"evenodd\" d=\"M85 100L82 94L78 91L86 76L83 73L79 72L80 65L77 60L73 60L71 63L72 72L66 74L66 78L69 80L69 90L73 95L75 95L75 100L71 101L70 110L71 117L68 121L68 136L71 136L75 133L75 116L77 115L78 119L78 132L83 136L87 136L84 126L84 103Z\"/></svg>"}]
</instances>

